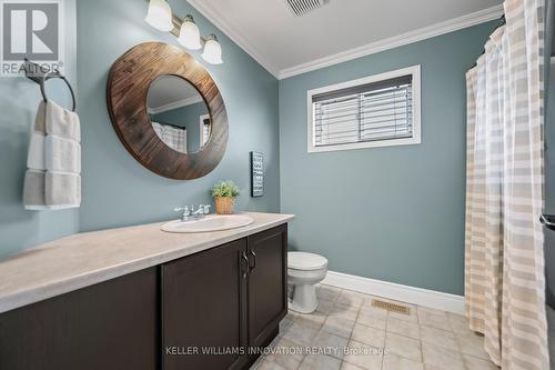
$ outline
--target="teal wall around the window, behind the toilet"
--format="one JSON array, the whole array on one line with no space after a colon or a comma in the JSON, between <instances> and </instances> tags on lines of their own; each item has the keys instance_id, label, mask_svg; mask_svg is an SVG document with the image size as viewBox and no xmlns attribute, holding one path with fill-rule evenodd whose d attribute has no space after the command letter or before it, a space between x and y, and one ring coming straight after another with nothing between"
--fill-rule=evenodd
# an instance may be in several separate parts
<instances>
[{"instance_id":1,"label":"teal wall around the window, behind the toilet","mask_svg":"<svg viewBox=\"0 0 555 370\"><path fill-rule=\"evenodd\" d=\"M281 210L330 270L462 294L465 72L496 22L280 81ZM422 144L306 152L306 90L422 67Z\"/></svg>"}]
</instances>

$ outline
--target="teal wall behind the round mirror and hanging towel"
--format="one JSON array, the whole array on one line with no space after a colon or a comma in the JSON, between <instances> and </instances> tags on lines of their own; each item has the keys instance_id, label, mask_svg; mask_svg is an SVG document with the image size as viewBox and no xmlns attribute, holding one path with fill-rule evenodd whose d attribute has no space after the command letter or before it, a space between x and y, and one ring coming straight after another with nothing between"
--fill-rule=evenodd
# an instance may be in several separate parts
<instances>
[{"instance_id":1,"label":"teal wall behind the round mirror and hanging towel","mask_svg":"<svg viewBox=\"0 0 555 370\"><path fill-rule=\"evenodd\" d=\"M189 3L176 0L170 3L176 14L192 13L201 31L215 33L222 44L222 66L206 64L199 52L192 52L214 78L228 109L230 139L221 163L202 179L175 181L150 172L127 152L107 111L105 84L110 67L137 43L178 43L174 37L143 21L147 1L78 0L77 72L70 70L68 77L72 82L79 80L82 204L69 211L23 210L21 198L29 130L40 93L37 86L24 79L0 79L0 258L78 231L175 218L172 212L175 206L210 203L209 189L221 179L232 179L243 190L238 202L240 210L279 211L276 79ZM68 19L74 24L74 14ZM74 37L74 29L73 32L71 28L67 30ZM74 60L75 49L70 49ZM265 154L263 198L249 197L251 150Z\"/></svg>"}]
</instances>

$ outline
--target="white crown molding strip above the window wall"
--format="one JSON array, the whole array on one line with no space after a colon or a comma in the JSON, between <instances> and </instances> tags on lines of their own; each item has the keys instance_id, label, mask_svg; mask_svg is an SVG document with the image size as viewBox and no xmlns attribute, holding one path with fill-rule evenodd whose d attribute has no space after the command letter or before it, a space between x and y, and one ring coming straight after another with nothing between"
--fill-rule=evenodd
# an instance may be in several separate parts
<instances>
[{"instance_id":1,"label":"white crown molding strip above the window wall","mask_svg":"<svg viewBox=\"0 0 555 370\"><path fill-rule=\"evenodd\" d=\"M394 36L376 42L372 42L351 50L345 50L333 56L320 58L295 67L286 68L280 71L279 79L286 79L296 74L310 72L324 67L342 63L356 58L370 56L384 50L398 48L408 43L422 41L436 36L462 30L467 27L484 23L500 18L503 14L503 6L492 7L480 10L466 16L454 18L444 22L427 26L411 32Z\"/></svg>"}]
</instances>

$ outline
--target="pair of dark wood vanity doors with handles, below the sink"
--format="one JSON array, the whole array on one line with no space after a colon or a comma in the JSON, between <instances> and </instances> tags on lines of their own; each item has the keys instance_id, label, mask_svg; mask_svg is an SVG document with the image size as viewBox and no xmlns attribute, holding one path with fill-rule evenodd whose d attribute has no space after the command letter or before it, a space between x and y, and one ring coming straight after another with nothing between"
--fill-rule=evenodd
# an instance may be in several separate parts
<instances>
[{"instance_id":1,"label":"pair of dark wood vanity doors with handles, below the sink","mask_svg":"<svg viewBox=\"0 0 555 370\"><path fill-rule=\"evenodd\" d=\"M281 226L162 266L164 370L254 362L287 311L286 240Z\"/></svg>"}]
</instances>

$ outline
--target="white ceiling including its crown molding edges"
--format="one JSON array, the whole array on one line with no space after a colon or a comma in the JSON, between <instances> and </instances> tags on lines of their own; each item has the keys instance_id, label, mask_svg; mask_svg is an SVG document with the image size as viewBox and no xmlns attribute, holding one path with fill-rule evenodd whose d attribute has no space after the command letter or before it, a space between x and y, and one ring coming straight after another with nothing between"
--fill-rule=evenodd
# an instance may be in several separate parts
<instances>
[{"instance_id":1,"label":"white ceiling including its crown molding edges","mask_svg":"<svg viewBox=\"0 0 555 370\"><path fill-rule=\"evenodd\" d=\"M285 0L188 1L279 78L498 18L503 2L331 0L295 17Z\"/></svg>"}]
</instances>

